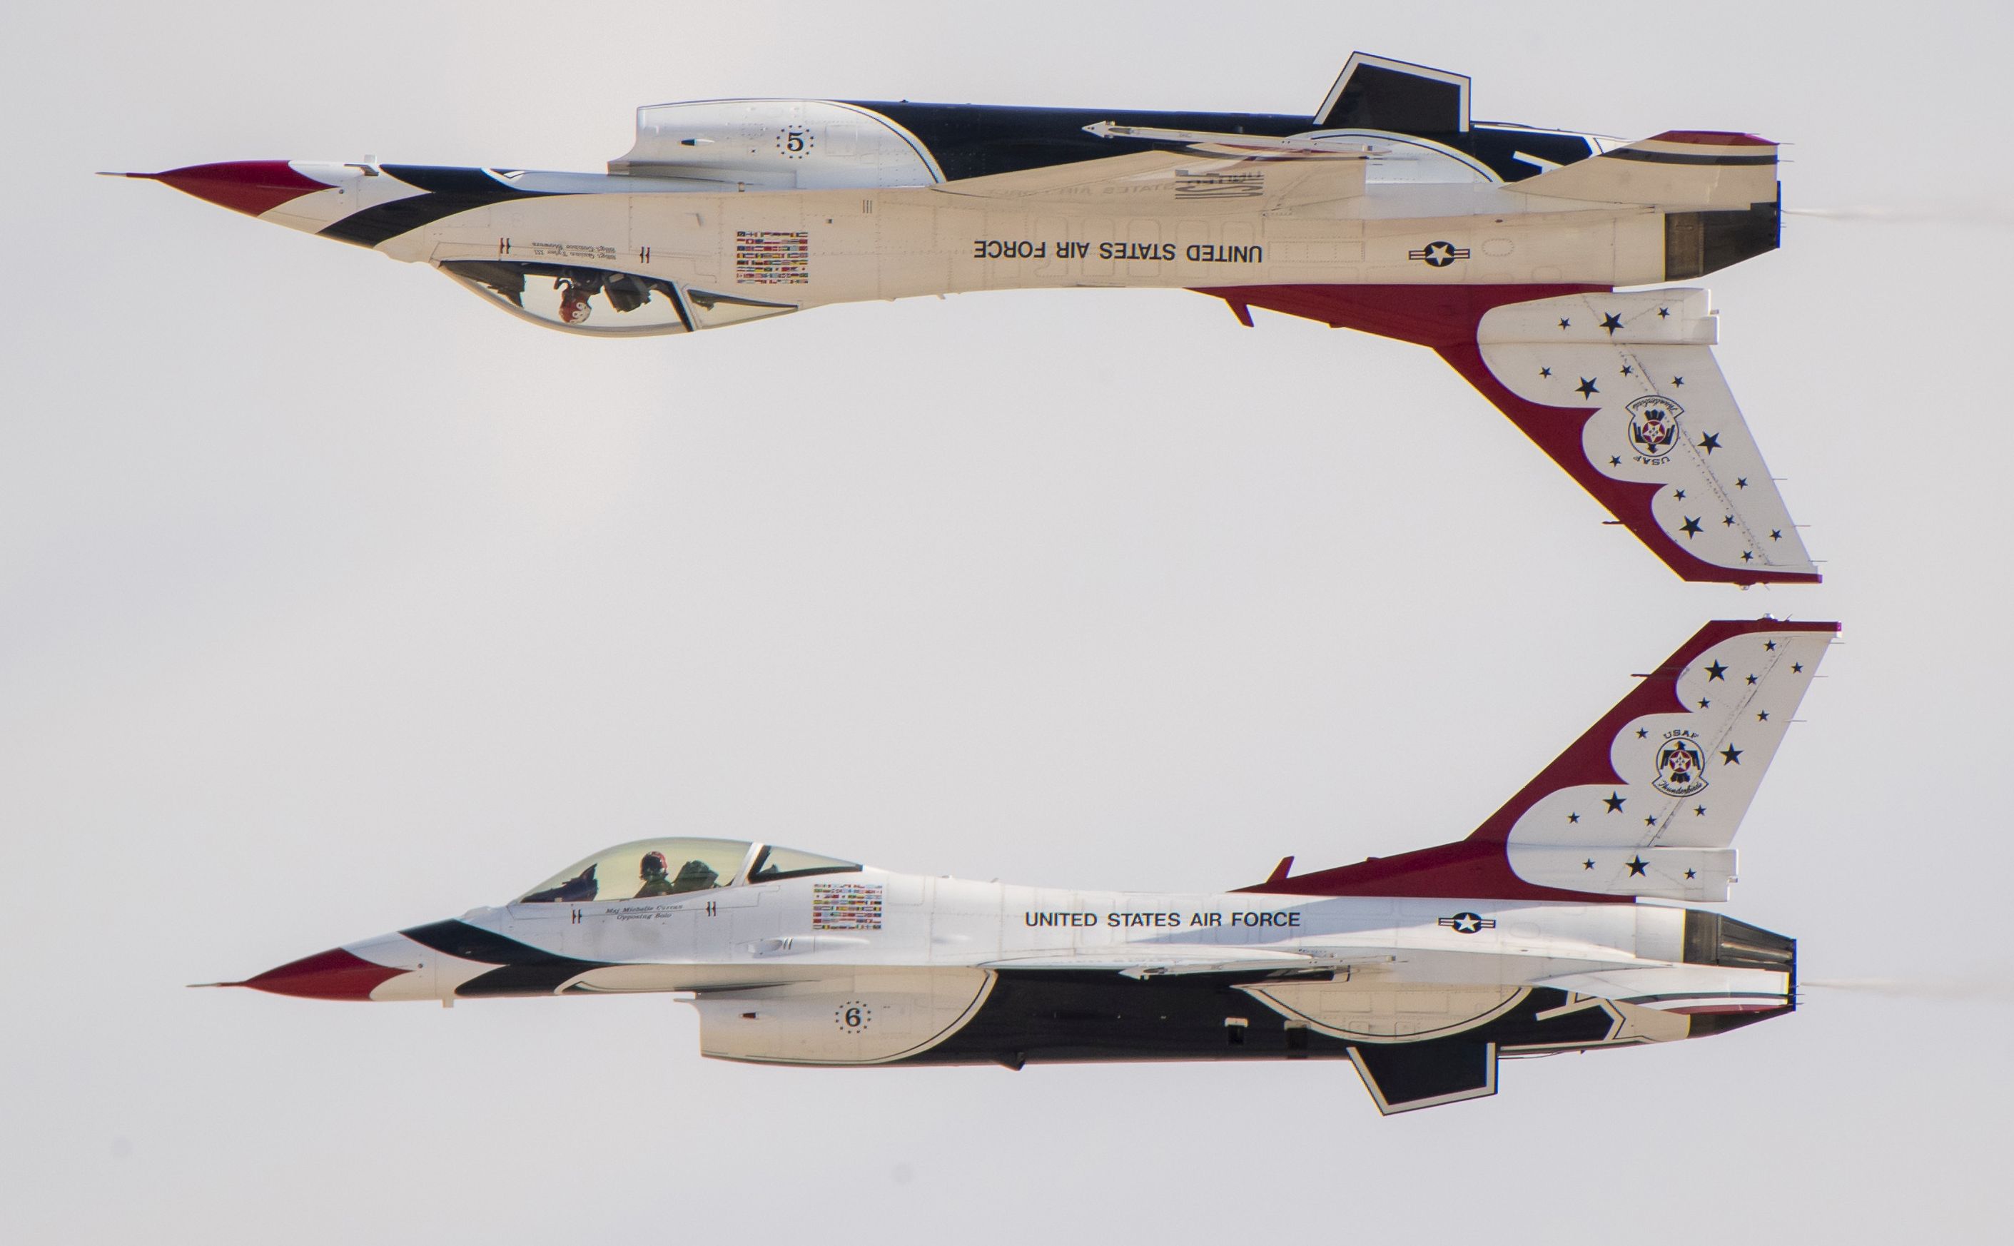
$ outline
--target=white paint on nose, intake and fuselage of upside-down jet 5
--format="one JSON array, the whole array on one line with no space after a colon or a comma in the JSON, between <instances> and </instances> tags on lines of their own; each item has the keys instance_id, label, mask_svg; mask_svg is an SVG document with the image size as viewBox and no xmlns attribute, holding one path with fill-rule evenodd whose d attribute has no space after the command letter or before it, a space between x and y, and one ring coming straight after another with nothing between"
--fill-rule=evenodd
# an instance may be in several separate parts
<instances>
[{"instance_id":1,"label":"white paint on nose, intake and fuselage of upside-down jet 5","mask_svg":"<svg viewBox=\"0 0 2014 1246\"><path fill-rule=\"evenodd\" d=\"M1295 139L1372 145L1376 155L1289 161L1116 147L1112 161L947 183L914 135L856 105L657 105L638 111L636 147L612 173L487 171L499 185L558 197L459 211L379 250L419 264L572 260L787 310L1071 286L1664 280L1664 213L1651 203L1529 193L1466 153L1410 135ZM298 229L419 193L379 165L294 167L334 187L266 213ZM781 280L737 272L747 240L761 236L802 236L802 266ZM1444 248L1428 254L1434 244ZM560 328L608 332L616 326L600 322L618 316L594 320Z\"/></svg>"}]
</instances>

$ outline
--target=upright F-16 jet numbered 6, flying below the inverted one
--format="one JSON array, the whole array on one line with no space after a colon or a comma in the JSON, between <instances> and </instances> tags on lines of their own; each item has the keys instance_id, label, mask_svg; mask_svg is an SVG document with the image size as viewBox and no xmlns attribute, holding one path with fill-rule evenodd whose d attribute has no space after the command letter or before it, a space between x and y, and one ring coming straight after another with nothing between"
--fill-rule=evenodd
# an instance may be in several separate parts
<instances>
[{"instance_id":1,"label":"upright F-16 jet numbered 6, flying below the inverted one","mask_svg":"<svg viewBox=\"0 0 2014 1246\"><path fill-rule=\"evenodd\" d=\"M1386 1113L1474 1099L1504 1057L1696 1039L1796 1006L1792 940L1643 902L1726 900L1728 841L1837 630L1706 624L1438 847L1136 894L646 839L497 908L232 986L447 1002L671 990L699 1008L701 1051L735 1061L1347 1059Z\"/></svg>"}]
</instances>

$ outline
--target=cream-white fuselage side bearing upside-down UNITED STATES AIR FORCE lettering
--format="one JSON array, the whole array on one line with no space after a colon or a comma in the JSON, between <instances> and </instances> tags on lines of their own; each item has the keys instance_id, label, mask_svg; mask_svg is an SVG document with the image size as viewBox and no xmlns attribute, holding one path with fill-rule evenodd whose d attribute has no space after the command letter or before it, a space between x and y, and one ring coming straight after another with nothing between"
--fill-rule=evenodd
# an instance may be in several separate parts
<instances>
[{"instance_id":1,"label":"cream-white fuselage side bearing upside-down UNITED STATES AIR FORCE lettering","mask_svg":"<svg viewBox=\"0 0 2014 1246\"><path fill-rule=\"evenodd\" d=\"M514 199L423 225L379 250L439 264L495 260L501 240L510 240L512 258L532 258L524 244L538 242L554 258L794 308L1073 286L1664 280L1664 213L1653 207L1547 201L1500 185L1434 187L1422 201L1420 187L1372 185L1357 197L1269 213L1235 201L1104 193L1120 189L1037 201L928 187ZM796 233L804 236L802 270L783 280L737 276L737 242L745 248L751 238ZM1436 242L1466 254L1428 264L1420 252Z\"/></svg>"}]
</instances>

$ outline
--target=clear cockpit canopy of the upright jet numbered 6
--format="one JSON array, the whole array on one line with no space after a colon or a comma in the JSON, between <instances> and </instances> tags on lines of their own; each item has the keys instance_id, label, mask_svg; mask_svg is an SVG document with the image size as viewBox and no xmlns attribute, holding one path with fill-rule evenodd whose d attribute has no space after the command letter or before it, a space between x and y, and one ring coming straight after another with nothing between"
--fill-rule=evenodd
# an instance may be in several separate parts
<instances>
[{"instance_id":1,"label":"clear cockpit canopy of the upright jet numbered 6","mask_svg":"<svg viewBox=\"0 0 2014 1246\"><path fill-rule=\"evenodd\" d=\"M743 866L747 874L743 876ZM854 874L860 866L775 843L747 839L636 839L574 862L526 892L518 904L582 904L588 900L651 900L731 888L737 882L777 882L810 874Z\"/></svg>"}]
</instances>

